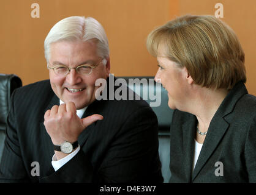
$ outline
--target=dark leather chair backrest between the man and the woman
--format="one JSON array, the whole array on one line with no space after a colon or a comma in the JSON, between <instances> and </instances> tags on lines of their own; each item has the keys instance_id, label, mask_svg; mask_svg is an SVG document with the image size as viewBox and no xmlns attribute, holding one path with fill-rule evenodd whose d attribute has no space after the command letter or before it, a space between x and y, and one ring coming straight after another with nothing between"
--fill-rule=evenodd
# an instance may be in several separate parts
<instances>
[{"instance_id":1,"label":"dark leather chair backrest between the man and the woman","mask_svg":"<svg viewBox=\"0 0 256 195\"><path fill-rule=\"evenodd\" d=\"M167 91L154 81L154 77L116 77L126 80L127 86L139 94L156 113L159 126L159 157L164 182L169 182L170 172L170 124L173 110L168 107ZM145 92L146 91L146 92ZM143 94L144 93L144 94Z\"/></svg>"}]
</instances>

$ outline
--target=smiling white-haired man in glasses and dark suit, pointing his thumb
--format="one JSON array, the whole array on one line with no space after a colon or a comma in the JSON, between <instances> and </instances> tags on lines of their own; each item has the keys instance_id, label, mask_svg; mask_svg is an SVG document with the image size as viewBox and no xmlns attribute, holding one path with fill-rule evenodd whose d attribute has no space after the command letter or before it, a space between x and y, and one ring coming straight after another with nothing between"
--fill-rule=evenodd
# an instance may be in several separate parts
<instances>
[{"instance_id":1,"label":"smiling white-haired man in glasses and dark suit, pointing his thumb","mask_svg":"<svg viewBox=\"0 0 256 195\"><path fill-rule=\"evenodd\" d=\"M96 99L96 80L110 73L99 22L62 19L45 39L45 58L50 80L12 94L0 181L162 182L148 104Z\"/></svg>"}]
</instances>

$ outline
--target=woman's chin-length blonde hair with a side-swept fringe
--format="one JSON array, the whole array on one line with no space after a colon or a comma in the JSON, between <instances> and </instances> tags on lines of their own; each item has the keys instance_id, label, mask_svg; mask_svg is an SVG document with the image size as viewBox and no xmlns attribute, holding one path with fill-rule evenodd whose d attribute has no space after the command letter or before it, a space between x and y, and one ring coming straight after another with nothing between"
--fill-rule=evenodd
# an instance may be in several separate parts
<instances>
[{"instance_id":1,"label":"woman's chin-length blonde hair with a side-swept fringe","mask_svg":"<svg viewBox=\"0 0 256 195\"><path fill-rule=\"evenodd\" d=\"M230 90L246 82L244 51L235 32L214 16L184 15L153 30L147 38L149 53L186 67L197 85Z\"/></svg>"}]
</instances>

